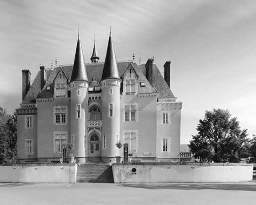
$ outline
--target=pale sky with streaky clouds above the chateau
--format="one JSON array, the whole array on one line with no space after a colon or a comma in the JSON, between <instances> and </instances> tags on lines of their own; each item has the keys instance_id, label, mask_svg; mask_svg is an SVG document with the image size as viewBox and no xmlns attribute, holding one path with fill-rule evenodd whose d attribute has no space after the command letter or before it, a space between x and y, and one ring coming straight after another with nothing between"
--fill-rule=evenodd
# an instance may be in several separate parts
<instances>
[{"instance_id":1,"label":"pale sky with streaky clouds above the chateau","mask_svg":"<svg viewBox=\"0 0 256 205\"><path fill-rule=\"evenodd\" d=\"M22 102L22 69L73 64L78 27L90 62L94 34L104 61L110 25L117 61L161 72L171 60L171 90L181 110L181 143L196 134L205 110L228 109L256 134L255 0L0 0L0 106Z\"/></svg>"}]
</instances>

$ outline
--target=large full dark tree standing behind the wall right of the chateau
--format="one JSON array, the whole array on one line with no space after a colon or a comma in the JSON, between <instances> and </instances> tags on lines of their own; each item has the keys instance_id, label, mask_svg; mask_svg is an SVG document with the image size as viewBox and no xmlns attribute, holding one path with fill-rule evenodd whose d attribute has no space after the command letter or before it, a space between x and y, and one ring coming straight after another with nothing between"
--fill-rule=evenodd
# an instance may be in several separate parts
<instances>
[{"instance_id":1,"label":"large full dark tree standing behind the wall right of the chateau","mask_svg":"<svg viewBox=\"0 0 256 205\"><path fill-rule=\"evenodd\" d=\"M241 130L236 117L228 110L205 111L204 119L197 125L189 148L201 162L238 162L248 153L246 129Z\"/></svg>"}]
</instances>

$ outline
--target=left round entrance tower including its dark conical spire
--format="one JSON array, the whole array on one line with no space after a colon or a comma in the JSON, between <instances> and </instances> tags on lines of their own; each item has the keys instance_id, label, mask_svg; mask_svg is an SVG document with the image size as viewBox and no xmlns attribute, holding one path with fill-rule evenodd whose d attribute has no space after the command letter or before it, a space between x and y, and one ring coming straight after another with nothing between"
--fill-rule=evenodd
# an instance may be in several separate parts
<instances>
[{"instance_id":1,"label":"left round entrance tower including its dark conical spire","mask_svg":"<svg viewBox=\"0 0 256 205\"><path fill-rule=\"evenodd\" d=\"M88 77L78 35L75 60L70 80L70 142L78 163L85 163L84 137L88 120Z\"/></svg>"}]
</instances>

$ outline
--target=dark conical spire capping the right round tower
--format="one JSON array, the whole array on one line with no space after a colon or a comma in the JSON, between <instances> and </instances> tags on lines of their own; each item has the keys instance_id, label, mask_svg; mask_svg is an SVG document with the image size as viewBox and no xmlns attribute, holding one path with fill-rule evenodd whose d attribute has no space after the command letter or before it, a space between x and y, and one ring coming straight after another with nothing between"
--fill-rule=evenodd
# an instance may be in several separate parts
<instances>
[{"instance_id":1,"label":"dark conical spire capping the right round tower","mask_svg":"<svg viewBox=\"0 0 256 205\"><path fill-rule=\"evenodd\" d=\"M116 78L120 80L118 68L116 64L114 46L111 38L111 28L110 28L106 58L105 58L101 80L109 79L109 78Z\"/></svg>"}]
</instances>

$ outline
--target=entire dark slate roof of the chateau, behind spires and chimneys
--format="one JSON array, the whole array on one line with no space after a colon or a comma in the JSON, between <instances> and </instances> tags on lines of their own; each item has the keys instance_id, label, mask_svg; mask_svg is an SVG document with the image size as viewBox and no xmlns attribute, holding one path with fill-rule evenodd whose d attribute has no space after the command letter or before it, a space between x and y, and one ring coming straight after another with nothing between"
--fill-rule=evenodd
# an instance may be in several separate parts
<instances>
[{"instance_id":1,"label":"entire dark slate roof of the chateau, behind spires and chimneys","mask_svg":"<svg viewBox=\"0 0 256 205\"><path fill-rule=\"evenodd\" d=\"M91 82L89 86L99 85L99 81L101 80L101 76L102 76L104 62L86 63L85 66L87 70L88 80ZM136 73L139 75L139 80L138 80L139 83L142 81L145 82L146 86L140 86L139 84L138 93L157 93L158 92L160 98L174 97L172 91L170 90L169 86L164 80L164 77L162 76L162 74L160 73L160 71L158 70L155 64L153 64L154 86L152 86L149 83L149 81L145 76L145 64L138 66L132 60L117 62L118 73L121 78L125 70L129 66L133 66ZM65 76L67 77L68 82L70 82L72 68L73 68L73 65L60 65L58 67L55 67L52 70L46 69L47 81L41 92L40 92L40 71L39 71L22 103L35 103L36 98L53 97L54 79L57 73L60 71L60 69L62 69ZM95 79L94 81L92 80L93 78ZM50 86L51 89L47 90L47 86ZM161 91L163 90L163 88L165 89L165 92L164 93L159 92L159 90Z\"/></svg>"}]
</instances>

